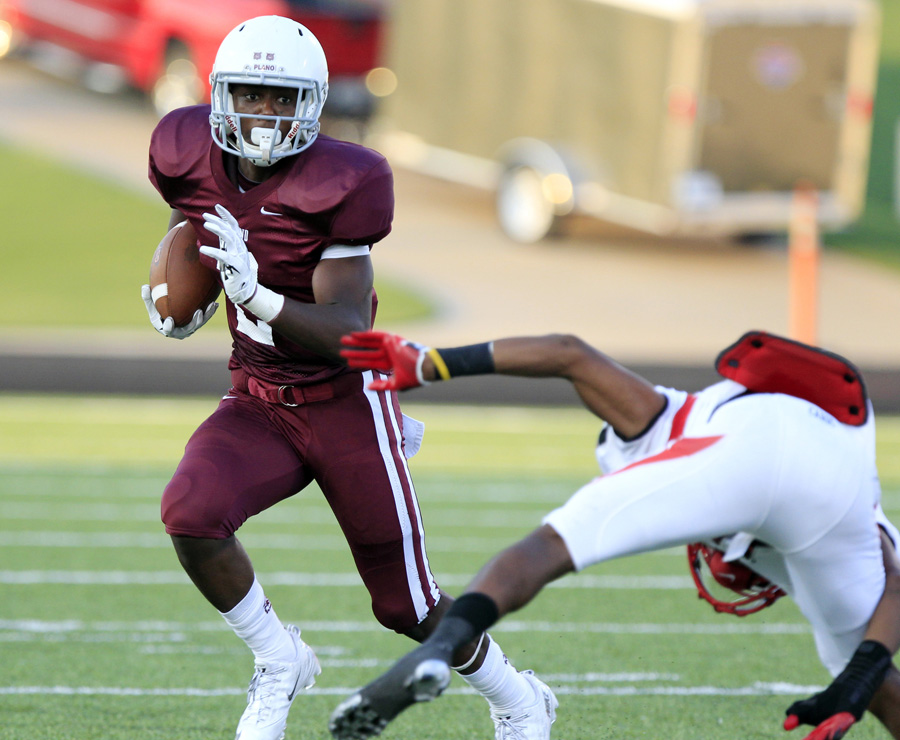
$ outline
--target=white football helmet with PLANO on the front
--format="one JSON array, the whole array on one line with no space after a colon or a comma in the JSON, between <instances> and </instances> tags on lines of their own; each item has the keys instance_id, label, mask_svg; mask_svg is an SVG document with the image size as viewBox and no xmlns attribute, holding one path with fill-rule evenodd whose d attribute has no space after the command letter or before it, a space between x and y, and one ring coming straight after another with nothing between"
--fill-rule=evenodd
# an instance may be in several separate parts
<instances>
[{"instance_id":1,"label":"white football helmet with PLANO on the front","mask_svg":"<svg viewBox=\"0 0 900 740\"><path fill-rule=\"evenodd\" d=\"M318 39L305 26L277 15L241 23L222 41L209 76L213 141L226 152L268 167L282 157L302 152L319 133L319 116L328 95L328 63ZM230 86L272 85L298 91L292 117L260 116L272 128L254 128L250 141L241 133ZM282 135L280 124L290 120Z\"/></svg>"}]
</instances>

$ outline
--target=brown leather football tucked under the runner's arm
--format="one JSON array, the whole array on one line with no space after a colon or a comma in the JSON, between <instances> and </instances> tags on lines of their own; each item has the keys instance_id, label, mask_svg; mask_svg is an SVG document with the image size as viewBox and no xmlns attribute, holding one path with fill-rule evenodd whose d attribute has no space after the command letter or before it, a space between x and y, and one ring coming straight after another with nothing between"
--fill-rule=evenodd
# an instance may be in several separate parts
<instances>
[{"instance_id":1,"label":"brown leather football tucked under the runner's arm","mask_svg":"<svg viewBox=\"0 0 900 740\"><path fill-rule=\"evenodd\" d=\"M165 321L184 326L199 309L219 295L216 273L200 260L197 232L187 221L173 226L163 237L150 262L150 291L156 310Z\"/></svg>"}]
</instances>

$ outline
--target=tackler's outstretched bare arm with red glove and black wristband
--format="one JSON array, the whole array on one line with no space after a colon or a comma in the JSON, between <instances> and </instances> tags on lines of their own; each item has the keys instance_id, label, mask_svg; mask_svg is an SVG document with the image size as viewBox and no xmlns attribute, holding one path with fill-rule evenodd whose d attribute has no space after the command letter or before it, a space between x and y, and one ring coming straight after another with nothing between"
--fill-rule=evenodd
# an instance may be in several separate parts
<instances>
[{"instance_id":1,"label":"tackler's outstretched bare arm with red glove and black wristband","mask_svg":"<svg viewBox=\"0 0 900 740\"><path fill-rule=\"evenodd\" d=\"M625 438L640 434L665 405L665 398L650 382L568 334L430 349L395 334L354 332L342 343L341 355L351 367L393 372L392 378L378 384L390 390L488 373L565 378L584 405Z\"/></svg>"}]
</instances>

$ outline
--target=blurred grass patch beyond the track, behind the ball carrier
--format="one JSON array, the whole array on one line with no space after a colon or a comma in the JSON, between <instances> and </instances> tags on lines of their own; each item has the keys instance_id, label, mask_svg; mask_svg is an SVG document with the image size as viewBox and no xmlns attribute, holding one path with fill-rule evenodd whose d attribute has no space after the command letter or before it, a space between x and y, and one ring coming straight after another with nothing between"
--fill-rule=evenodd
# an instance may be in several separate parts
<instances>
[{"instance_id":1,"label":"blurred grass patch beyond the track, behind the ball carrier","mask_svg":"<svg viewBox=\"0 0 900 740\"><path fill-rule=\"evenodd\" d=\"M6 287L0 327L146 329L140 285L165 233L168 207L116 183L15 149L0 141L0 159L15 172L0 198L5 224ZM431 314L407 286L376 280L381 322ZM214 319L211 329L227 332Z\"/></svg>"}]
</instances>

